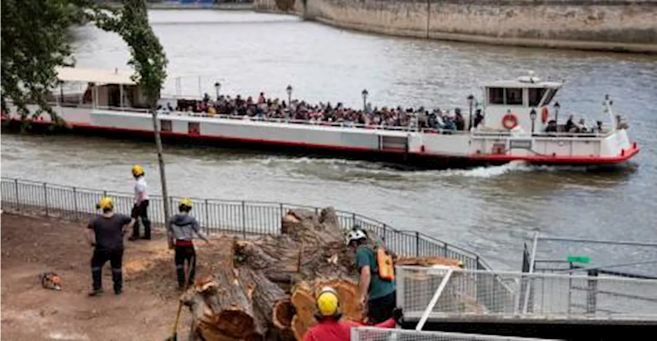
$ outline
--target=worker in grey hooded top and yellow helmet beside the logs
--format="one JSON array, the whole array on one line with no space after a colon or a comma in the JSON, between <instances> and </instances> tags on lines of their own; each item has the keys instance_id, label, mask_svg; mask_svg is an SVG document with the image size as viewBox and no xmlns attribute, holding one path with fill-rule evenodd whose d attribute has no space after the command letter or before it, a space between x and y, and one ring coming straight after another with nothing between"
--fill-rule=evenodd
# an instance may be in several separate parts
<instances>
[{"instance_id":1,"label":"worker in grey hooded top and yellow helmet beside the logs","mask_svg":"<svg viewBox=\"0 0 657 341\"><path fill-rule=\"evenodd\" d=\"M206 243L210 243L208 237L200 230L198 220L189 215L192 205L191 199L182 199L178 206L179 213L171 216L167 222L169 249L175 248L175 273L178 277L179 290L185 289L185 262L189 269L187 284L194 283L194 274L196 273L196 251L192 241L194 233Z\"/></svg>"}]
</instances>

